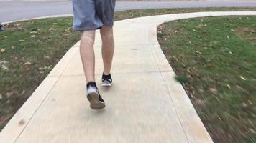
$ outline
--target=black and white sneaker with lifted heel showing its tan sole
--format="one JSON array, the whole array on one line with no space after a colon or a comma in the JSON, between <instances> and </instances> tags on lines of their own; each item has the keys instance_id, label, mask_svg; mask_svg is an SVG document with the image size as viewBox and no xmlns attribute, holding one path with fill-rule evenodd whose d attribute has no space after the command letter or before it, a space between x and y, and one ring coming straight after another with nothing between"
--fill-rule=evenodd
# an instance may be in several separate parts
<instances>
[{"instance_id":1,"label":"black and white sneaker with lifted heel showing its tan sole","mask_svg":"<svg viewBox=\"0 0 256 143\"><path fill-rule=\"evenodd\" d=\"M105 102L99 94L99 90L96 87L95 82L89 82L87 85L87 99L90 102L91 109L103 109Z\"/></svg>"}]
</instances>

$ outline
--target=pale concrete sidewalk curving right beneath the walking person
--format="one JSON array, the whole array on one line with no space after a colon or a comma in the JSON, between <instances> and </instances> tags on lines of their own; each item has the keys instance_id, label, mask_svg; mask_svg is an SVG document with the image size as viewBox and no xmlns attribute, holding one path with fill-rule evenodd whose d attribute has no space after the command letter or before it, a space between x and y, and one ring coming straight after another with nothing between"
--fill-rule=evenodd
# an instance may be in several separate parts
<instances>
[{"instance_id":1,"label":"pale concrete sidewalk curving right beneath the walking person","mask_svg":"<svg viewBox=\"0 0 256 143\"><path fill-rule=\"evenodd\" d=\"M201 16L256 15L247 12L168 14L117 21L113 87L99 90L106 109L93 111L79 42L0 133L0 142L212 142L181 84L175 82L157 41L156 27L165 21ZM96 79L102 59L96 34Z\"/></svg>"}]
</instances>

